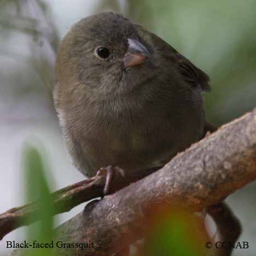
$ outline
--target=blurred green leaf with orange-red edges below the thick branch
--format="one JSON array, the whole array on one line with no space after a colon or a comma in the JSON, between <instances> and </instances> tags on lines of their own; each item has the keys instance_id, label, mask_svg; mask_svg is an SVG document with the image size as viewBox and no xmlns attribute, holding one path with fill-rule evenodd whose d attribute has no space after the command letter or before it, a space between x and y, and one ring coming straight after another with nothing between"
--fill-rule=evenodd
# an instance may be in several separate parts
<instances>
[{"instance_id":1,"label":"blurred green leaf with orange-red edges below the thick branch","mask_svg":"<svg viewBox=\"0 0 256 256\"><path fill-rule=\"evenodd\" d=\"M206 234L198 218L174 209L156 215L139 256L206 255Z\"/></svg>"}]
</instances>

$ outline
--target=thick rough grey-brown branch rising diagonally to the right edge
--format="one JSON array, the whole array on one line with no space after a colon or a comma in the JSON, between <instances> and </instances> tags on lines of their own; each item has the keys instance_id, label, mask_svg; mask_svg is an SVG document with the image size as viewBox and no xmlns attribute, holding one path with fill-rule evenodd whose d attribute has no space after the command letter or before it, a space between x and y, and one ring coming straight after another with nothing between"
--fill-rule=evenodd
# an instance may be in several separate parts
<instances>
[{"instance_id":1,"label":"thick rough grey-brown branch rising diagonally to the right edge","mask_svg":"<svg viewBox=\"0 0 256 256\"><path fill-rule=\"evenodd\" d=\"M91 248L86 255L111 255L139 238L148 209L172 205L200 211L254 179L256 110L193 144L161 170L89 203L56 229L55 241L96 243L100 239L101 248ZM62 248L58 253L84 255L85 251Z\"/></svg>"}]
</instances>

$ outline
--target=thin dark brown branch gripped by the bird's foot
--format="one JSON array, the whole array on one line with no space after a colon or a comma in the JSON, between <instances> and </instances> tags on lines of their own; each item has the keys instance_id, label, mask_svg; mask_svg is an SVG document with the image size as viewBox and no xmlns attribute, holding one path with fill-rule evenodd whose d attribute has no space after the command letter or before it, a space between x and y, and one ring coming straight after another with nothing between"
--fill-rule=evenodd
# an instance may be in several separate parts
<instances>
[{"instance_id":1,"label":"thin dark brown branch gripped by the bird's foot","mask_svg":"<svg viewBox=\"0 0 256 256\"><path fill-rule=\"evenodd\" d=\"M125 179L115 176L111 183L111 193L120 188L129 185L131 182L138 181L146 177L155 170L147 170L140 173L127 173ZM69 185L66 188L55 191L51 194L53 199L53 208L55 214L68 212L80 203L90 201L96 197L103 196L106 175L95 176L85 181ZM40 202L32 202L27 205L11 208L10 210L0 214L0 240L9 232L18 229L20 226L30 225L37 222L38 211L40 211Z\"/></svg>"}]
</instances>

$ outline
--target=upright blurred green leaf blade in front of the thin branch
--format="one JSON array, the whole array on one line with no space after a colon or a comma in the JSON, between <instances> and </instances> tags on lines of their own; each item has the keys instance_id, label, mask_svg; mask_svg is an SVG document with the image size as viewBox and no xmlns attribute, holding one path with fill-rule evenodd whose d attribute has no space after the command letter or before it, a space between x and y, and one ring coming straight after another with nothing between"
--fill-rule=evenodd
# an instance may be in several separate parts
<instances>
[{"instance_id":1,"label":"upright blurred green leaf blade in front of the thin branch","mask_svg":"<svg viewBox=\"0 0 256 256\"><path fill-rule=\"evenodd\" d=\"M27 201L38 201L39 208L35 215L40 221L31 225L27 231L28 241L37 241L38 243L50 243L53 240L53 201L50 197L49 184L45 175L45 160L39 153L39 150L27 146L24 149L25 178ZM51 255L50 249L35 248L33 255Z\"/></svg>"}]
</instances>

